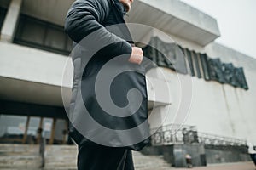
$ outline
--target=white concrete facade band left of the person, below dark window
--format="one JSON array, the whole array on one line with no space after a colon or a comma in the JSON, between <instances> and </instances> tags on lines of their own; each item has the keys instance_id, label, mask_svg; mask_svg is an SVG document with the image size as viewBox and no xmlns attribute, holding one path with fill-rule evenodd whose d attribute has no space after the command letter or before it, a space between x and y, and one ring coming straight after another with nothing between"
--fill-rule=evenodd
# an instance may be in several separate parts
<instances>
[{"instance_id":1,"label":"white concrete facade band left of the person, below dark window","mask_svg":"<svg viewBox=\"0 0 256 170\"><path fill-rule=\"evenodd\" d=\"M61 86L67 57L36 48L0 42L0 76Z\"/></svg>"}]
</instances>

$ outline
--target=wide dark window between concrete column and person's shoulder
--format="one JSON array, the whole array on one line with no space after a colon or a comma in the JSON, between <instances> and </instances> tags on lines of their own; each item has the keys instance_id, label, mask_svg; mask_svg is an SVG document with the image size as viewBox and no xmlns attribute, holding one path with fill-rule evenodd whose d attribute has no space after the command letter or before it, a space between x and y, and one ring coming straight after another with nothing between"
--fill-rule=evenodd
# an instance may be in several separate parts
<instances>
[{"instance_id":1,"label":"wide dark window between concrete column and person's shoulder","mask_svg":"<svg viewBox=\"0 0 256 170\"><path fill-rule=\"evenodd\" d=\"M20 15L14 42L64 55L70 54L72 48L72 40L67 37L63 26L38 20L26 14Z\"/></svg>"}]
</instances>

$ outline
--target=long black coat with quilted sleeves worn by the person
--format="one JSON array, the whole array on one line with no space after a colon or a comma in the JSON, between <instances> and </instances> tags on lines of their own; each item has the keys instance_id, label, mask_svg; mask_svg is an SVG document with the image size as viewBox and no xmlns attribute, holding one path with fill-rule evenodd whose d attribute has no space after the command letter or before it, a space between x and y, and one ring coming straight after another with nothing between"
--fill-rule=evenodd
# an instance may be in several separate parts
<instances>
[{"instance_id":1,"label":"long black coat with quilted sleeves worn by the person","mask_svg":"<svg viewBox=\"0 0 256 170\"><path fill-rule=\"evenodd\" d=\"M119 0L77 0L67 13L65 30L68 36L79 44L76 45L72 53L74 75L72 99L68 112L71 122L70 134L77 144L97 143L113 147L127 146L126 139L123 141L124 138L119 136L122 133L115 132L123 131L125 133L125 130L134 129L143 122L147 122L148 100L145 70L142 65L128 62L132 40L130 32L124 25L123 16L124 7ZM107 81L100 80L101 84L98 87L106 88L109 85L109 88L107 87L106 90L96 89L98 75L105 73L102 73L101 70L108 65L109 61L118 59L118 56L122 56L120 58L122 60L110 65L110 70L124 68L125 71L114 77L110 84L108 84L108 79L111 75L106 73ZM141 94L141 105L136 111L133 107L137 105L136 102L139 99L137 99L137 95L128 95L132 88L136 88ZM127 114L132 111L133 113L123 117L109 114L99 104L97 98L97 95L102 95L100 98L106 97L108 93L105 94L105 92L110 94L110 98L105 100L107 103L113 101L116 108L125 110ZM127 99L127 96L130 100ZM86 115L84 112L87 111L87 116L84 116ZM90 118L92 119L90 120ZM91 125L90 123L93 122L100 126ZM147 136L148 125L146 124L144 123L145 126L143 126L143 130L146 132L138 130L134 135ZM105 128L101 129L102 127ZM109 129L112 131L108 131ZM95 136L101 141L95 139ZM127 139L129 140L130 137ZM140 150L144 144L148 143L148 139L138 143L134 145L131 142L132 146L127 147Z\"/></svg>"}]
</instances>

